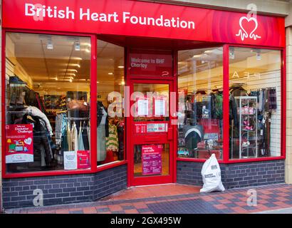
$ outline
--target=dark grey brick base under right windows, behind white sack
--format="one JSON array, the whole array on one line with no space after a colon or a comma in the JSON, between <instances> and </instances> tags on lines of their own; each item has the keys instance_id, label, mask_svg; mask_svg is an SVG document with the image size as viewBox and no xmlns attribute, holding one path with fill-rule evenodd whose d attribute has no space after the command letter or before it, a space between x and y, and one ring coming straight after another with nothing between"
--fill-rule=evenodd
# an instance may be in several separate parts
<instances>
[{"instance_id":1,"label":"dark grey brick base under right windows, behind white sack","mask_svg":"<svg viewBox=\"0 0 292 228\"><path fill-rule=\"evenodd\" d=\"M177 162L177 182L203 185L203 162ZM285 160L220 164L221 180L226 189L273 185L285 182Z\"/></svg>"}]
</instances>

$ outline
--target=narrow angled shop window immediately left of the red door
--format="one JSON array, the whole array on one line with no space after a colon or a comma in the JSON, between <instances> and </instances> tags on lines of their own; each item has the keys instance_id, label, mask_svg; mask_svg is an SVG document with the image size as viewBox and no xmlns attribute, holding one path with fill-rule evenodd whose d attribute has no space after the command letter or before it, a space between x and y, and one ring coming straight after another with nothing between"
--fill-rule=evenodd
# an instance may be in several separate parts
<instances>
[{"instance_id":1,"label":"narrow angled shop window immediately left of the red door","mask_svg":"<svg viewBox=\"0 0 292 228\"><path fill-rule=\"evenodd\" d=\"M98 40L98 166L124 160L124 48Z\"/></svg>"}]
</instances>

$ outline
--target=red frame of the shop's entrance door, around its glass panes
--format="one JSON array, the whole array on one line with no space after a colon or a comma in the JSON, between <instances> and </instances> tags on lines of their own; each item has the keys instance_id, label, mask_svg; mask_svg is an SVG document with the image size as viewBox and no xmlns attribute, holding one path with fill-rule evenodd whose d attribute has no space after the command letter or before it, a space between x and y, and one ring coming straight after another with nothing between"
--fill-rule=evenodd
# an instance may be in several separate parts
<instances>
[{"instance_id":1,"label":"red frame of the shop's entrance door, around its glass panes","mask_svg":"<svg viewBox=\"0 0 292 228\"><path fill-rule=\"evenodd\" d=\"M161 77L160 77L161 78ZM172 80L157 80L157 79L150 79L150 78L143 78L143 79L130 79L129 80L129 86L130 86L130 94L133 92L133 85L134 83L145 83L145 84L168 84L169 85L169 98L170 93L174 92L174 78ZM130 107L132 107L132 104L135 101L130 100ZM170 103L169 103L170 105ZM170 113L170 112L169 112ZM172 120L174 119L172 115L169 116L169 123L168 123L168 131L171 130L171 133L166 132L163 134L163 138L165 138L163 141L147 141L143 140L142 136L136 137L134 142L134 133L132 132L133 129L133 117L130 115L127 117L127 135L128 135L128 144L127 144L127 160L128 160L128 185L129 186L137 186L137 185L160 185L160 184L166 184L166 183L172 183L174 182L174 156L175 156L175 147L174 147L174 130L172 128ZM155 133L154 133L155 134ZM171 140L167 140L167 136L170 135ZM162 136L162 134L160 134ZM168 143L170 146L169 151L169 175L157 175L157 176L145 176L145 177L134 177L134 145L142 145L142 144L164 144Z\"/></svg>"}]
</instances>

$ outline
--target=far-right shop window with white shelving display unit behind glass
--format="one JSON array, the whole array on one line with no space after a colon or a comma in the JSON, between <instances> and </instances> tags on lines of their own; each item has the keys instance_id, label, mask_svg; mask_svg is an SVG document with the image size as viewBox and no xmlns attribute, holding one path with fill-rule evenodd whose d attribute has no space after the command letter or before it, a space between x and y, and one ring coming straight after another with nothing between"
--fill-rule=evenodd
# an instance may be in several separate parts
<instances>
[{"instance_id":1,"label":"far-right shop window with white shelving display unit behind glass","mask_svg":"<svg viewBox=\"0 0 292 228\"><path fill-rule=\"evenodd\" d=\"M281 51L229 48L229 158L281 155Z\"/></svg>"}]
</instances>

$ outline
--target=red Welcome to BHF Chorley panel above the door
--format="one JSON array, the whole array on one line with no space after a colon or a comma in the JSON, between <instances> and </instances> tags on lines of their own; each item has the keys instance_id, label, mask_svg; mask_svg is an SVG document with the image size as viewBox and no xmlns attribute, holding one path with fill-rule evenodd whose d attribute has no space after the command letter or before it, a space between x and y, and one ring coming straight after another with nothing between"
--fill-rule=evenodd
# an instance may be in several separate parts
<instances>
[{"instance_id":1,"label":"red Welcome to BHF Chorley panel above the door","mask_svg":"<svg viewBox=\"0 0 292 228\"><path fill-rule=\"evenodd\" d=\"M127 66L131 76L172 76L172 55L129 53Z\"/></svg>"}]
</instances>

